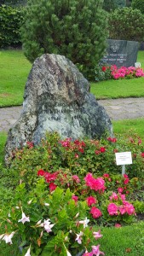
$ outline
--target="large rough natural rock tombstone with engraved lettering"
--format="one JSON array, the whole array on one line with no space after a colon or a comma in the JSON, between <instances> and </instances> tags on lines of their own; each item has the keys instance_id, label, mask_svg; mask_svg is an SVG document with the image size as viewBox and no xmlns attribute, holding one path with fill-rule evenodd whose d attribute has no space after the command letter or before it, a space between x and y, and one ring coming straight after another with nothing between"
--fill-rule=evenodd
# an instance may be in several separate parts
<instances>
[{"instance_id":1,"label":"large rough natural rock tombstone with engraved lettering","mask_svg":"<svg viewBox=\"0 0 144 256\"><path fill-rule=\"evenodd\" d=\"M26 142L38 144L47 131L61 138L95 138L112 124L105 109L89 93L89 82L78 68L62 55L42 55L34 61L26 82L20 119L9 130L5 161L14 148Z\"/></svg>"}]
</instances>

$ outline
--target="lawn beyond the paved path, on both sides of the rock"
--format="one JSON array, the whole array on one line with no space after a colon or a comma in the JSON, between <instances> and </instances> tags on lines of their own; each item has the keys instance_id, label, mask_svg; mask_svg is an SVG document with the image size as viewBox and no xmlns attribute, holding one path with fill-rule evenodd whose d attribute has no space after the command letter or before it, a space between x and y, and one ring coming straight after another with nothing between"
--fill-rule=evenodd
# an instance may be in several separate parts
<instances>
[{"instance_id":1,"label":"lawn beyond the paved path, on both sides of the rock","mask_svg":"<svg viewBox=\"0 0 144 256\"><path fill-rule=\"evenodd\" d=\"M139 51L137 61L144 67L144 51ZM22 50L0 51L0 107L22 104L31 67ZM91 92L96 99L141 97L144 96L144 78L91 83Z\"/></svg>"}]
</instances>

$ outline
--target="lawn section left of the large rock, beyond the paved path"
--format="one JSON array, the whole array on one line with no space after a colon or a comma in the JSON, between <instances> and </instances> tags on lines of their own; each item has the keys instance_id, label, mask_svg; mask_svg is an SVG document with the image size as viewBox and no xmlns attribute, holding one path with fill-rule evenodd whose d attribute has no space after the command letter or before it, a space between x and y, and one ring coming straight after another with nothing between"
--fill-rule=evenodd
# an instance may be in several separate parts
<instances>
[{"instance_id":1,"label":"lawn section left of the large rock, beyond the paved path","mask_svg":"<svg viewBox=\"0 0 144 256\"><path fill-rule=\"evenodd\" d=\"M22 50L0 51L0 107L22 104L31 67Z\"/></svg>"}]
</instances>

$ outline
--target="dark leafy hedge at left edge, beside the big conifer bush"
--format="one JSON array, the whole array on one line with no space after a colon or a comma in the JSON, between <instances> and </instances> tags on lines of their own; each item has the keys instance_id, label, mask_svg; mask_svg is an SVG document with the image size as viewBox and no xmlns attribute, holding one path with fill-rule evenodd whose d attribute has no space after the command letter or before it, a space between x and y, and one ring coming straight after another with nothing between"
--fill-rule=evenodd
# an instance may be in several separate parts
<instances>
[{"instance_id":1,"label":"dark leafy hedge at left edge, beside the big conifer bush","mask_svg":"<svg viewBox=\"0 0 144 256\"><path fill-rule=\"evenodd\" d=\"M20 44L21 9L0 6L0 48Z\"/></svg>"}]
</instances>

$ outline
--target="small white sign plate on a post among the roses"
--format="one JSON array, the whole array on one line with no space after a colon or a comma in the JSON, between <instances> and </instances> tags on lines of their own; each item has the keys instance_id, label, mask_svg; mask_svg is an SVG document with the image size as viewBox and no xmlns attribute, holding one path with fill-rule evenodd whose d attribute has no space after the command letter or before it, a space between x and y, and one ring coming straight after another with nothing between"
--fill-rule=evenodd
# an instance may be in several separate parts
<instances>
[{"instance_id":1,"label":"small white sign plate on a post among the roses","mask_svg":"<svg viewBox=\"0 0 144 256\"><path fill-rule=\"evenodd\" d=\"M132 164L131 152L115 153L117 166L125 166Z\"/></svg>"}]
</instances>

